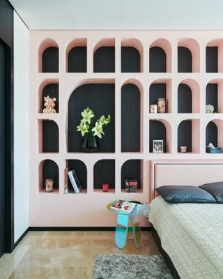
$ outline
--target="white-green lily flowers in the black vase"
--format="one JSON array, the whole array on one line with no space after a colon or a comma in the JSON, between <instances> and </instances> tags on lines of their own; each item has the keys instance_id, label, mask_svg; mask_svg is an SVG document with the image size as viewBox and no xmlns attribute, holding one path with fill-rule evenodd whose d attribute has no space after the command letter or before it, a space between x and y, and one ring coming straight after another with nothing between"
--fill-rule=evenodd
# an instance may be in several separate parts
<instances>
[{"instance_id":1,"label":"white-green lily flowers in the black vase","mask_svg":"<svg viewBox=\"0 0 223 279\"><path fill-rule=\"evenodd\" d=\"M98 136L101 139L102 135L105 135L103 129L111 121L111 116L108 115L107 118L105 118L105 115L100 116L100 119L97 119L95 121L95 125L93 126L94 116L93 110L87 107L84 112L82 112L83 119L81 120L79 126L77 126L77 131L81 132L83 137L84 135L93 135Z\"/></svg>"}]
</instances>

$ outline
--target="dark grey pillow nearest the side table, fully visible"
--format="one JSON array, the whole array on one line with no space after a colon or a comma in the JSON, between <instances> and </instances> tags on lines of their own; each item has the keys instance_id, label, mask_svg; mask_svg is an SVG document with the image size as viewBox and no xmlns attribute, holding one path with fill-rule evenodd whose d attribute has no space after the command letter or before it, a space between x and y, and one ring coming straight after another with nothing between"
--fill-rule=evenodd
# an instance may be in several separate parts
<instances>
[{"instance_id":1,"label":"dark grey pillow nearest the side table, fully visible","mask_svg":"<svg viewBox=\"0 0 223 279\"><path fill-rule=\"evenodd\" d=\"M216 203L213 195L195 186L161 186L155 190L170 203Z\"/></svg>"}]
</instances>

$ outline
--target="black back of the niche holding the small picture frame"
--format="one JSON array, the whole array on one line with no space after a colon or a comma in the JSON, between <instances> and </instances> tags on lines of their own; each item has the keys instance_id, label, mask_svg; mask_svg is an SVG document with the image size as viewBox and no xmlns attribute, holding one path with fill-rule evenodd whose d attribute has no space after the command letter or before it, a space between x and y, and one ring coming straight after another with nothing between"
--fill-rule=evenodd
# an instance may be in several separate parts
<instances>
[{"instance_id":1,"label":"black back of the niche holding the small picture frame","mask_svg":"<svg viewBox=\"0 0 223 279\"><path fill-rule=\"evenodd\" d=\"M167 132L164 123L157 120L149 121L149 151L153 152L153 140L163 140L163 151L166 152Z\"/></svg>"}]
</instances>

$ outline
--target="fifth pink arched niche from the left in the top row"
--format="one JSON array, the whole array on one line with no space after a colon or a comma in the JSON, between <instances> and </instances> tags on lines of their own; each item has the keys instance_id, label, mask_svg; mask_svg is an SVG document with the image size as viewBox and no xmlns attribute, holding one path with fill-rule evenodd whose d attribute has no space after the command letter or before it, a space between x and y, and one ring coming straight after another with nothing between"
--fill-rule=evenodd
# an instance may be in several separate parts
<instances>
[{"instance_id":1,"label":"fifth pink arched niche from the left in the top row","mask_svg":"<svg viewBox=\"0 0 223 279\"><path fill-rule=\"evenodd\" d=\"M171 72L172 48L168 40L160 38L150 45L149 71L150 73Z\"/></svg>"}]
</instances>

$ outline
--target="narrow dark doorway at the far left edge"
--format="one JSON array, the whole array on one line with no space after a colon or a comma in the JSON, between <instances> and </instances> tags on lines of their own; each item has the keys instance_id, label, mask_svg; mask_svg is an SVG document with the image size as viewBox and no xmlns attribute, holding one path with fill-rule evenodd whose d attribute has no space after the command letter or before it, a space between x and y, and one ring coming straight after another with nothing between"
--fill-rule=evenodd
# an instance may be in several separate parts
<instances>
[{"instance_id":1,"label":"narrow dark doorway at the far left edge","mask_svg":"<svg viewBox=\"0 0 223 279\"><path fill-rule=\"evenodd\" d=\"M5 252L5 49L0 43L0 257Z\"/></svg>"}]
</instances>

